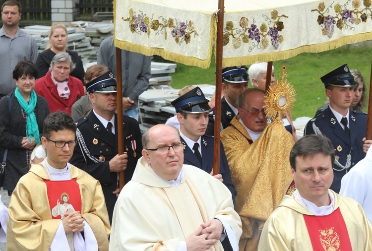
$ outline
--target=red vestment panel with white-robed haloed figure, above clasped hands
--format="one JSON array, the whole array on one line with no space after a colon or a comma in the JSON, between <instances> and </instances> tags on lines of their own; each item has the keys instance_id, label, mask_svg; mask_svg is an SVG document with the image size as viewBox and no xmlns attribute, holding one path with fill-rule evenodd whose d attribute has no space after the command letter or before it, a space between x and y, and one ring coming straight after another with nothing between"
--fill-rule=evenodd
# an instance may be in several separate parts
<instances>
[{"instance_id":1,"label":"red vestment panel with white-robed haloed figure, above clasped hands","mask_svg":"<svg viewBox=\"0 0 372 251\"><path fill-rule=\"evenodd\" d=\"M68 181L44 180L53 219L63 219L65 213L81 212L81 194L75 179Z\"/></svg>"}]
</instances>

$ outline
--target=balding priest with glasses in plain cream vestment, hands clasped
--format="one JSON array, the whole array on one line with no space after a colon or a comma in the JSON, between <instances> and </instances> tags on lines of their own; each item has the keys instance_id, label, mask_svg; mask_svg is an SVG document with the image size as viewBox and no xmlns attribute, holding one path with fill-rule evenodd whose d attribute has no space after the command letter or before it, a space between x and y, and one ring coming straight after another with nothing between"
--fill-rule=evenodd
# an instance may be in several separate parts
<instances>
[{"instance_id":1,"label":"balding priest with glasses in plain cream vestment, hands clasped","mask_svg":"<svg viewBox=\"0 0 372 251\"><path fill-rule=\"evenodd\" d=\"M155 125L142 137L143 157L115 205L111 251L215 250L242 234L231 192L208 173L184 163L175 127Z\"/></svg>"}]
</instances>

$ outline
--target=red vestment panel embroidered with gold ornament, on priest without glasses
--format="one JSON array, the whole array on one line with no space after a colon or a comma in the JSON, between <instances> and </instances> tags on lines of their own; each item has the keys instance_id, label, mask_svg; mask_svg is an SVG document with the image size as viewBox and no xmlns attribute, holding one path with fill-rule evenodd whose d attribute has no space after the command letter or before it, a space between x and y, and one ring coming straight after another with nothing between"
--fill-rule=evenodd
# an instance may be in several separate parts
<instances>
[{"instance_id":1,"label":"red vestment panel embroidered with gold ornament, on priest without glasses","mask_svg":"<svg viewBox=\"0 0 372 251\"><path fill-rule=\"evenodd\" d=\"M303 215L313 250L352 250L340 208L329 215Z\"/></svg>"}]
</instances>

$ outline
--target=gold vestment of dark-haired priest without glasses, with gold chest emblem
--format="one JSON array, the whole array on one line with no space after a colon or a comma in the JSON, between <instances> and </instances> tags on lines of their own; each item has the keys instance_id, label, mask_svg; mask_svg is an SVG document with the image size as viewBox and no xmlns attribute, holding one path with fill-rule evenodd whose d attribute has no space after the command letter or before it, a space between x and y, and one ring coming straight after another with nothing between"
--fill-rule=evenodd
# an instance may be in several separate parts
<instances>
[{"instance_id":1,"label":"gold vestment of dark-haired priest without glasses, with gold chest emblem","mask_svg":"<svg viewBox=\"0 0 372 251\"><path fill-rule=\"evenodd\" d=\"M340 209L345 221L353 251L372 250L372 227L363 208L354 199L344 197L330 190L334 195L333 210ZM304 203L305 204L305 203ZM294 196L285 195L280 205L267 219L259 240L259 251L312 251L312 245L304 215L314 215L297 202ZM322 217L322 216L315 216ZM337 238L337 231L319 229L319 242L324 243L324 250L346 251L345 247L332 247ZM333 230L333 229L332 229ZM324 242L327 241L327 242ZM319 251L319 250L316 250ZM321 250L320 250L321 251Z\"/></svg>"}]
</instances>

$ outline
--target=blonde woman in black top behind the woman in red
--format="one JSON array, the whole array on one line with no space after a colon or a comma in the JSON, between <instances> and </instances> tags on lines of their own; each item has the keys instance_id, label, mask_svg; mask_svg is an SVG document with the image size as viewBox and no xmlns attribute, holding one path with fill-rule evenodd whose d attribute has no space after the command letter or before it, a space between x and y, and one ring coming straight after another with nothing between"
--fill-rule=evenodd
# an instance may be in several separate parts
<instances>
[{"instance_id":1,"label":"blonde woman in black top behind the woman in red","mask_svg":"<svg viewBox=\"0 0 372 251\"><path fill-rule=\"evenodd\" d=\"M76 77L84 81L84 66L79 55L76 52L66 50L67 44L67 29L62 23L52 25L49 33L49 44L45 51L40 53L36 61L38 68L38 78L45 76L49 65L54 56L60 52L66 52L71 56L72 62L75 63L75 68L70 71L70 76Z\"/></svg>"}]
</instances>

